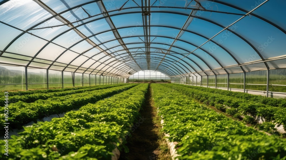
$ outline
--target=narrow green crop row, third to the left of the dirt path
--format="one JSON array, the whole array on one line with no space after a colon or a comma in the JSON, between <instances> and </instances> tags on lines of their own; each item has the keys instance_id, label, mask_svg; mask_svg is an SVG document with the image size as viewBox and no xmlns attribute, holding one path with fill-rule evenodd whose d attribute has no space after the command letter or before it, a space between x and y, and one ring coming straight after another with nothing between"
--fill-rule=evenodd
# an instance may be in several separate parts
<instances>
[{"instance_id":1,"label":"narrow green crop row, third to the left of the dirt path","mask_svg":"<svg viewBox=\"0 0 286 160\"><path fill-rule=\"evenodd\" d=\"M94 91L94 90L98 90L98 89L106 89L106 88L111 88L111 87L116 87L116 86L122 86L122 85L126 85L125 84L116 84L116 85L97 85L97 86L91 86L91 87L77 87L77 89L73 89L73 90L67 90L67 91L56 91L56 92L49 92L49 93L33 93L33 94L28 94L28 95L14 95L14 96L9 96L8 102L9 104L11 103L15 103L18 101L22 101L22 102L26 102L26 103L31 103L31 102L35 102L38 99L48 99L51 97L60 97L60 96L64 96L64 95L71 95L71 94L76 94L76 93L83 93L83 92L87 92L87 91ZM42 91L42 90L40 90ZM10 95L10 94L8 94ZM3 97L4 99L4 97ZM6 103L5 101L1 101L0 105L4 106Z\"/></svg>"}]
</instances>

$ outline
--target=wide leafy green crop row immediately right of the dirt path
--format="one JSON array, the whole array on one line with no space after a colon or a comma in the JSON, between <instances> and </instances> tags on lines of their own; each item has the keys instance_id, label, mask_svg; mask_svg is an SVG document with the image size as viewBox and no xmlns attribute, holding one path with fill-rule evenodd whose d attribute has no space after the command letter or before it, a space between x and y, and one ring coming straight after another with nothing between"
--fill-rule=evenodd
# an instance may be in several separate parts
<instances>
[{"instance_id":1,"label":"wide leafy green crop row immediately right of the dirt path","mask_svg":"<svg viewBox=\"0 0 286 160\"><path fill-rule=\"evenodd\" d=\"M188 96L151 84L162 131L176 145L178 159L286 159L286 139L266 135L209 109Z\"/></svg>"}]
</instances>

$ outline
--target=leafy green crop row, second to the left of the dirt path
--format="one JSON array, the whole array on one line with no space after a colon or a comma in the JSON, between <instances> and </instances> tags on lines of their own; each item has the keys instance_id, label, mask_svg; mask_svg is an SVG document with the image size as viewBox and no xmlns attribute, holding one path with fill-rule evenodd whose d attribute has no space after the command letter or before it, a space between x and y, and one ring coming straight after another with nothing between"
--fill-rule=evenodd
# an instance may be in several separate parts
<instances>
[{"instance_id":1,"label":"leafy green crop row, second to the left of the dirt path","mask_svg":"<svg viewBox=\"0 0 286 160\"><path fill-rule=\"evenodd\" d=\"M43 118L51 114L63 113L72 109L78 109L88 103L117 94L120 91L130 89L137 84L129 84L124 86L112 87L107 89L94 90L84 93L76 93L61 97L52 97L46 100L37 100L33 103L16 102L9 105L9 127L22 128L22 125L30 121L37 122L37 119ZM4 130L4 107L0 109L0 127ZM3 132L4 133L4 132Z\"/></svg>"}]
</instances>

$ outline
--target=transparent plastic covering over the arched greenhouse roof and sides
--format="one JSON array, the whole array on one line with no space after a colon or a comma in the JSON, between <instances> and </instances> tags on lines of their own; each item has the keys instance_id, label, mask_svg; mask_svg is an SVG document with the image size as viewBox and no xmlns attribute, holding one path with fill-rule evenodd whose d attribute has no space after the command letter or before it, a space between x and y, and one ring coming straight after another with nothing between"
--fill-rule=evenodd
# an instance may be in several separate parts
<instances>
[{"instance_id":1,"label":"transparent plastic covering over the arched greenhouse roof and sides","mask_svg":"<svg viewBox=\"0 0 286 160\"><path fill-rule=\"evenodd\" d=\"M53 70L51 87L60 87L62 72L76 73L65 85L77 86L114 84L109 77L147 70L196 85L213 85L215 75L222 75L217 83L226 87L227 74L251 77L253 71L286 68L285 5L281 0L4 0L0 64L37 68L28 69L28 83L36 88L47 87L41 86L47 70ZM43 77L33 77L43 69Z\"/></svg>"}]
</instances>

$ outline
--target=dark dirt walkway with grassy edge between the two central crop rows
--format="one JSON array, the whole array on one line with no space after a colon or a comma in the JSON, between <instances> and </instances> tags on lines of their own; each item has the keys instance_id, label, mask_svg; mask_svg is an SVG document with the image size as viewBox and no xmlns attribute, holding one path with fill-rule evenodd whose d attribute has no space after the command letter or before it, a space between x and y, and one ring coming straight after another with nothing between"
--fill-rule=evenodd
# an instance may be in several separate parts
<instances>
[{"instance_id":1,"label":"dark dirt walkway with grassy edge between the two central crop rows","mask_svg":"<svg viewBox=\"0 0 286 160\"><path fill-rule=\"evenodd\" d=\"M127 138L129 153L121 152L119 160L169 160L170 152L164 135L160 133L160 121L156 108L152 105L150 88L146 95L145 105L140 112L139 123L132 129L132 137Z\"/></svg>"}]
</instances>

